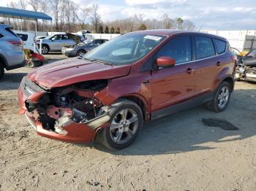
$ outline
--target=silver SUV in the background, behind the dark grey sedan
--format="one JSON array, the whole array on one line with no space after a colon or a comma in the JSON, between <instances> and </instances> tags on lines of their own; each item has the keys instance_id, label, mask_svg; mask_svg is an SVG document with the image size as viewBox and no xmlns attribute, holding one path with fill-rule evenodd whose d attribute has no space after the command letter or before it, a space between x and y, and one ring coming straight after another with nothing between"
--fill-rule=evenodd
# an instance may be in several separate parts
<instances>
[{"instance_id":1,"label":"silver SUV in the background, behind the dark grey sedan","mask_svg":"<svg viewBox=\"0 0 256 191\"><path fill-rule=\"evenodd\" d=\"M42 54L48 52L61 52L62 47L77 44L72 34L53 34L42 39ZM78 37L79 38L79 37ZM39 46L40 41L37 40Z\"/></svg>"}]
</instances>

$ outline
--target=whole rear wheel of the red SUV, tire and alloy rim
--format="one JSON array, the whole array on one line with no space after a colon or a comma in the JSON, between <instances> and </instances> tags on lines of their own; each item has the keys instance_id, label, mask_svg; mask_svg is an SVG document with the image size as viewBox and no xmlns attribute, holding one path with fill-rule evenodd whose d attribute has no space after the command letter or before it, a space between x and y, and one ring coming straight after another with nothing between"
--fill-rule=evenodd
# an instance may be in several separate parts
<instances>
[{"instance_id":1,"label":"whole rear wheel of the red SUV, tire and alloy rim","mask_svg":"<svg viewBox=\"0 0 256 191\"><path fill-rule=\"evenodd\" d=\"M208 109L214 112L223 112L227 108L230 101L231 86L228 82L222 82L219 85L216 93L214 94L214 99L208 104Z\"/></svg>"}]
</instances>

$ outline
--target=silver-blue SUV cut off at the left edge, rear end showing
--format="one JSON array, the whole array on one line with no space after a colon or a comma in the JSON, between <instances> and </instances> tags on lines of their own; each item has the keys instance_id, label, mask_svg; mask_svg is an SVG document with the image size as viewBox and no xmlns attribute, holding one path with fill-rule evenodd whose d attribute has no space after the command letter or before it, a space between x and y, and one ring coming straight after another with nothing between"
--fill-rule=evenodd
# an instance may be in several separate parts
<instances>
[{"instance_id":1,"label":"silver-blue SUV cut off at the left edge, rear end showing","mask_svg":"<svg viewBox=\"0 0 256 191\"><path fill-rule=\"evenodd\" d=\"M17 69L26 63L23 42L10 28L9 25L0 25L0 79L4 76L4 69Z\"/></svg>"}]
</instances>

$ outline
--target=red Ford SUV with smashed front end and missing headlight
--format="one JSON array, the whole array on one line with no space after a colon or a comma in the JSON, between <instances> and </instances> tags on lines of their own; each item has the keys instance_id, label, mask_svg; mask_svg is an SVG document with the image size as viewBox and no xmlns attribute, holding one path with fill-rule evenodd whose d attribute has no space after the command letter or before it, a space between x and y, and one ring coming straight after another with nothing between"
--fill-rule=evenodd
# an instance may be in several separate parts
<instances>
[{"instance_id":1,"label":"red Ford SUV with smashed front end and missing headlight","mask_svg":"<svg viewBox=\"0 0 256 191\"><path fill-rule=\"evenodd\" d=\"M235 66L222 37L137 31L29 73L18 90L20 114L40 136L75 143L99 136L122 149L144 122L200 104L224 111Z\"/></svg>"}]
</instances>

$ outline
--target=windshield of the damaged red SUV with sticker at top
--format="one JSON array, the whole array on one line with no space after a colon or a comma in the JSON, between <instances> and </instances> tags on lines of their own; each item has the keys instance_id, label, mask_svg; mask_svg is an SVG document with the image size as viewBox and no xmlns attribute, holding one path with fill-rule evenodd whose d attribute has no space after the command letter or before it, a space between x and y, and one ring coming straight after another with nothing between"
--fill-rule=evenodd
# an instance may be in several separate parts
<instances>
[{"instance_id":1,"label":"windshield of the damaged red SUV with sticker at top","mask_svg":"<svg viewBox=\"0 0 256 191\"><path fill-rule=\"evenodd\" d=\"M162 35L124 34L105 42L83 56L114 65L131 64L140 60L165 39Z\"/></svg>"}]
</instances>

